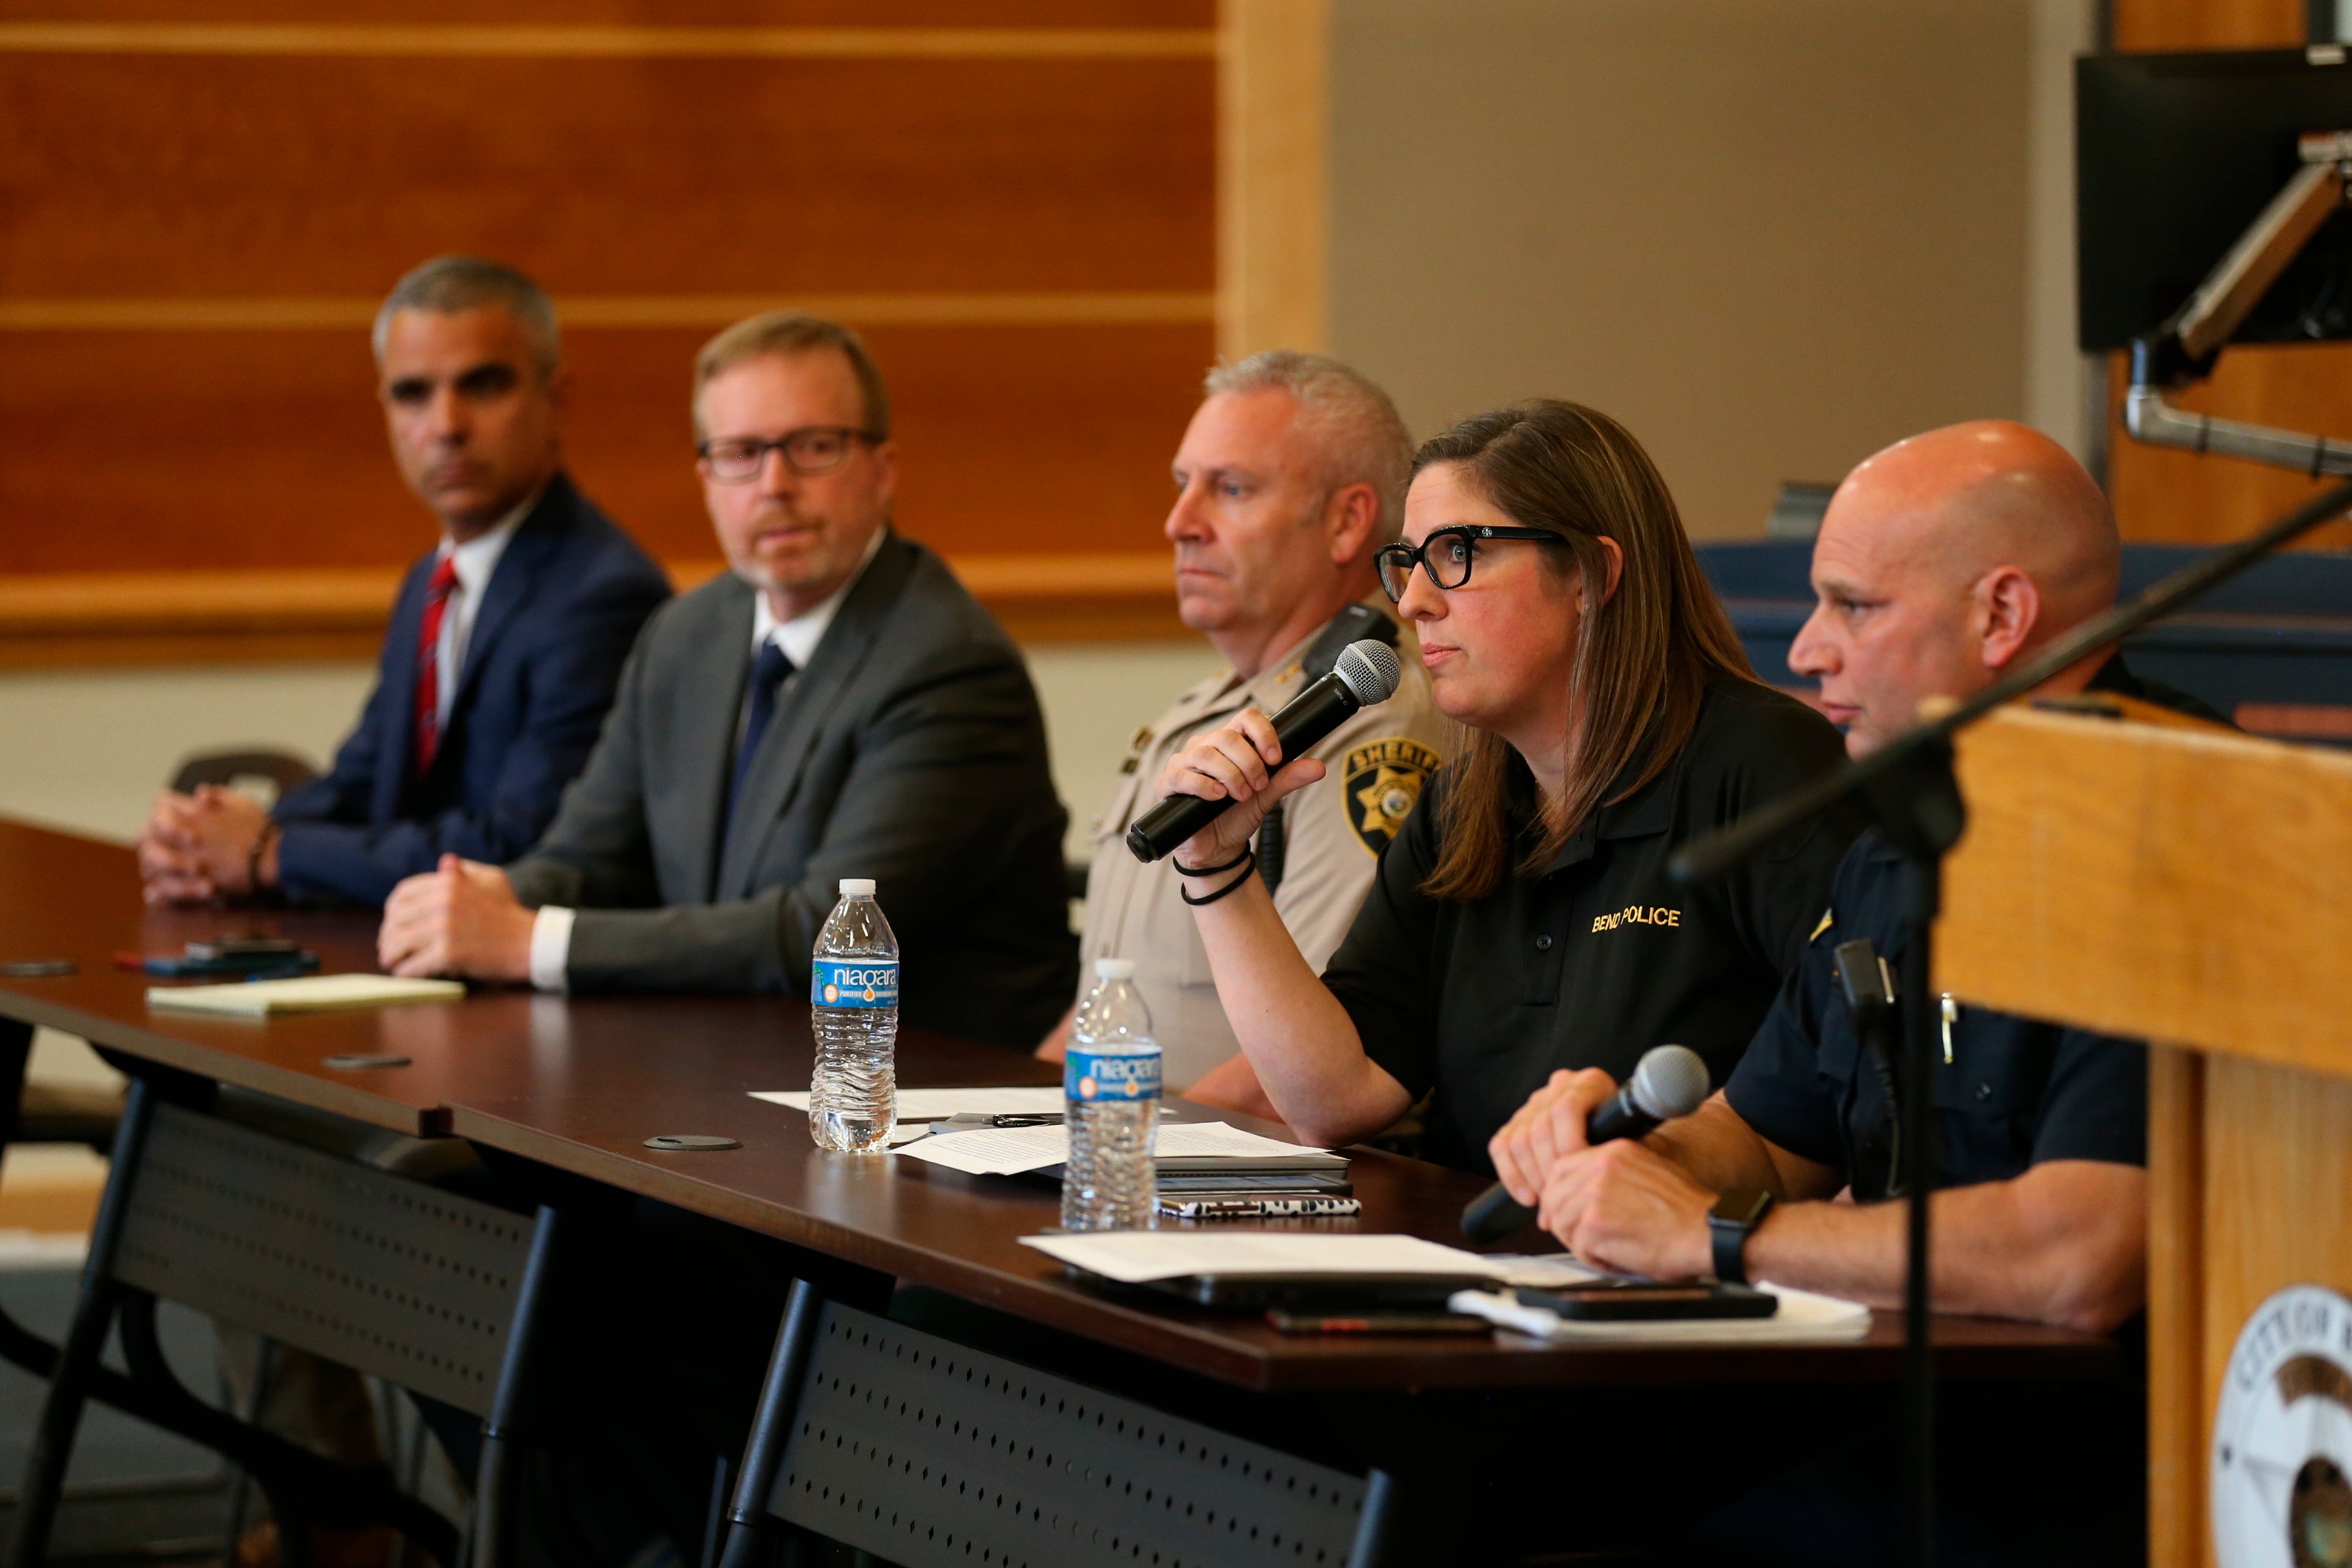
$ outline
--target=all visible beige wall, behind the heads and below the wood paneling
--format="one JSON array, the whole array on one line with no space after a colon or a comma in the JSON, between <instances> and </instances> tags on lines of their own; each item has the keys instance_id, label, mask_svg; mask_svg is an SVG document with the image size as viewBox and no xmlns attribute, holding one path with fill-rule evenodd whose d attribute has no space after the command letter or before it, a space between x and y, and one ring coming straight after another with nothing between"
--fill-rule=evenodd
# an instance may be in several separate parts
<instances>
[{"instance_id":1,"label":"all visible beige wall, behind the heads and below the wood paneling","mask_svg":"<svg viewBox=\"0 0 2352 1568\"><path fill-rule=\"evenodd\" d=\"M2067 56L2091 0L1343 0L1331 317L1416 430L1531 393L1698 534L1940 421L2082 437ZM1176 442L1169 430L1169 447ZM1073 849L1202 644L1033 649ZM0 675L0 811L129 837L238 741L325 757L365 665Z\"/></svg>"}]
</instances>

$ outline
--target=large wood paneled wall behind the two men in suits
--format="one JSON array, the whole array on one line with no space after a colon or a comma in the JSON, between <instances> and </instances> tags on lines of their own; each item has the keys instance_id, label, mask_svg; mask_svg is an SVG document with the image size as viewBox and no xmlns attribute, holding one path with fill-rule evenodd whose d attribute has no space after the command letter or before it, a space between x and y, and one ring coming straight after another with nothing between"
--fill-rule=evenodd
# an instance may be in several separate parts
<instances>
[{"instance_id":1,"label":"large wood paneled wall behind the two men in suits","mask_svg":"<svg viewBox=\"0 0 2352 1568\"><path fill-rule=\"evenodd\" d=\"M682 578L691 353L795 303L1018 630L1174 630L1200 376L1322 331L1322 7L0 0L0 661L367 646L433 538L367 322L437 252L555 294L569 463Z\"/></svg>"}]
</instances>

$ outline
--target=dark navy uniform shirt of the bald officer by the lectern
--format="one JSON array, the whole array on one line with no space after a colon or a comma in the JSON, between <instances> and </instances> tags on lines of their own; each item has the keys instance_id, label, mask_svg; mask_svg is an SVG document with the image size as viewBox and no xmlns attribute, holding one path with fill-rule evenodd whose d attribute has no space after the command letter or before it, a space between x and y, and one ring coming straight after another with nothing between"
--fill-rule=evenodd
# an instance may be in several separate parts
<instances>
[{"instance_id":1,"label":"dark navy uniform shirt of the bald officer by the lectern","mask_svg":"<svg viewBox=\"0 0 2352 1568\"><path fill-rule=\"evenodd\" d=\"M2192 696L2138 679L2110 658L2093 691L2216 719ZM1783 1150L1835 1168L1853 1197L1886 1197L1891 1107L1837 987L1839 943L1867 938L1896 973L1910 957L1903 860L1877 832L1837 867L1830 914L1804 947L1755 1044L1724 1086L1731 1110ZM1945 1030L1940 1030L1945 1032ZM2147 1164L2147 1051L2140 1041L1957 1006L1938 1041L1936 1185L2023 1175L2044 1159Z\"/></svg>"}]
</instances>

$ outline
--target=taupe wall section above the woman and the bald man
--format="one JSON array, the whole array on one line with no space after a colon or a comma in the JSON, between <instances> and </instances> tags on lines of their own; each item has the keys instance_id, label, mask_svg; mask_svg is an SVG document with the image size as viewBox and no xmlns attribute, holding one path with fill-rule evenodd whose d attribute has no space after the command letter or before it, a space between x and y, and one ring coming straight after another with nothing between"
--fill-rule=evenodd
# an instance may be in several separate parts
<instances>
[{"instance_id":1,"label":"taupe wall section above the woman and the bald man","mask_svg":"<svg viewBox=\"0 0 2352 1568\"><path fill-rule=\"evenodd\" d=\"M1700 536L1759 531L1780 480L2020 416L2032 24L1345 0L1334 348L1418 433L1529 395L1616 414Z\"/></svg>"}]
</instances>

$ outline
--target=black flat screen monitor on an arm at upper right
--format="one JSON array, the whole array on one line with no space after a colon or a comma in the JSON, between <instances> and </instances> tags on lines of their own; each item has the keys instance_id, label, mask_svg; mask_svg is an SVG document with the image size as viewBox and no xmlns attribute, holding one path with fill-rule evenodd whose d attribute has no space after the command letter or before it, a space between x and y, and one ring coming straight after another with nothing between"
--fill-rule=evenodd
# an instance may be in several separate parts
<instances>
[{"instance_id":1,"label":"black flat screen monitor on an arm at upper right","mask_svg":"<svg viewBox=\"0 0 2352 1568\"><path fill-rule=\"evenodd\" d=\"M2074 61L2074 237L2084 350L2154 331L2298 167L2305 132L2352 132L2343 49ZM2270 287L2239 343L2352 336L2352 219Z\"/></svg>"}]
</instances>

